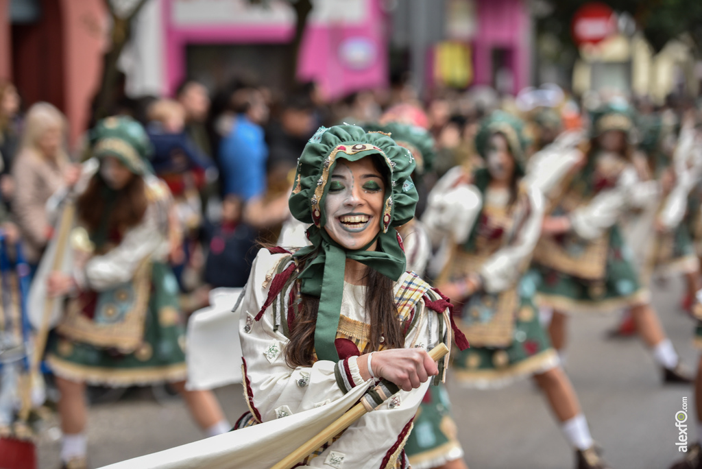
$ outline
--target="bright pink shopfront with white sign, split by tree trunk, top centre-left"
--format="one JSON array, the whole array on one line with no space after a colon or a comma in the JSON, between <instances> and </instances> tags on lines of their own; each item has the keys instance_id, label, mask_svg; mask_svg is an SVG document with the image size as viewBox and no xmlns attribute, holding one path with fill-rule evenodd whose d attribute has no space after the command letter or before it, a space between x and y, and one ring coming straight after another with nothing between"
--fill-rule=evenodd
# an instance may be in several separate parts
<instances>
[{"instance_id":1,"label":"bright pink shopfront with white sign, split by tree trunk, top centre-left","mask_svg":"<svg viewBox=\"0 0 702 469\"><path fill-rule=\"evenodd\" d=\"M228 6L217 0L161 0L165 92L172 94L188 72L187 47L198 44L286 44L294 35L292 8L274 2L272 8L243 20L239 0ZM192 2L192 3L188 3ZM195 4L221 8L220 17L194 18ZM237 6L239 4L239 6ZM335 8L336 7L336 8ZM242 8L237 12L237 8ZM247 7L251 8L251 7ZM381 0L314 2L303 37L298 79L316 81L328 98L388 84L386 15ZM262 58L265 60L265 58Z\"/></svg>"}]
</instances>

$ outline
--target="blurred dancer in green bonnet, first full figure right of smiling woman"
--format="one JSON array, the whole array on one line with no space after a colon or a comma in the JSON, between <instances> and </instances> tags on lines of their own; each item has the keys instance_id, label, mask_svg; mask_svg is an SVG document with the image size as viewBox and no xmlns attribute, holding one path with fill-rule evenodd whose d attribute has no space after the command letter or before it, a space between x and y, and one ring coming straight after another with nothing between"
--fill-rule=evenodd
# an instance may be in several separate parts
<instances>
[{"instance_id":1,"label":"blurred dancer in green bonnet, first full figure right of smiling woman","mask_svg":"<svg viewBox=\"0 0 702 469\"><path fill-rule=\"evenodd\" d=\"M576 452L577 469L607 469L568 376L538 320L534 280L525 271L538 241L543 196L523 183L522 121L496 111L481 122L475 147L486 169L456 166L432 190L425 220L449 236L437 284L461 306L470 350L453 354L461 384L500 388L533 376Z\"/></svg>"}]
</instances>

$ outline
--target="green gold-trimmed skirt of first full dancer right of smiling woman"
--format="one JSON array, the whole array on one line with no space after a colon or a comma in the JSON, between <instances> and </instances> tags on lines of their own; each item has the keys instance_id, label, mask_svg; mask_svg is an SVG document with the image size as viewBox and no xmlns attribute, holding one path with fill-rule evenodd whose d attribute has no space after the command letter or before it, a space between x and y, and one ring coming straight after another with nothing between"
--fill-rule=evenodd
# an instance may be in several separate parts
<instances>
[{"instance_id":1,"label":"green gold-trimmed skirt of first full dancer right of smiling woman","mask_svg":"<svg viewBox=\"0 0 702 469\"><path fill-rule=\"evenodd\" d=\"M559 364L538 319L534 297L538 275L528 272L519 285L512 343L505 348L474 347L451 350L451 375L470 388L501 388L521 378L548 371ZM463 329L461 322L461 329ZM465 332L465 331L464 331Z\"/></svg>"}]
</instances>

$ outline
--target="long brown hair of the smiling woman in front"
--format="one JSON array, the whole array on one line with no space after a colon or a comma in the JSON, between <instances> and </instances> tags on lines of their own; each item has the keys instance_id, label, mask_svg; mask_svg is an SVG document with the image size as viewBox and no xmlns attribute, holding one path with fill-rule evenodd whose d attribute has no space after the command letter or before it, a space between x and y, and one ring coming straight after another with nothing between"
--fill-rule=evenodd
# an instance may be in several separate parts
<instances>
[{"instance_id":1,"label":"long brown hair of the smiling woman in front","mask_svg":"<svg viewBox=\"0 0 702 469\"><path fill-rule=\"evenodd\" d=\"M397 319L395 294L392 292L392 280L371 267L366 267L364 275L366 284L366 321L371 324L371 336L368 345L359 352L368 353L378 350L380 338L386 348L403 348L404 334ZM339 292L341 294L341 292ZM285 348L285 360L288 366L312 366L314 358L314 330L317 327L319 298L303 294L298 316L290 329L290 343Z\"/></svg>"}]
</instances>

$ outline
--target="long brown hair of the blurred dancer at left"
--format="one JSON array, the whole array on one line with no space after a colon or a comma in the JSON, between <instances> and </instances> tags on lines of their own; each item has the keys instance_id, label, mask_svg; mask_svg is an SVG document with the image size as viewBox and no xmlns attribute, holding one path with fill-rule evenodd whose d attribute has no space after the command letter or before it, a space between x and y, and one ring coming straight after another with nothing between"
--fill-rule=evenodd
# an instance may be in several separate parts
<instances>
[{"instance_id":1,"label":"long brown hair of the blurred dancer at left","mask_svg":"<svg viewBox=\"0 0 702 469\"><path fill-rule=\"evenodd\" d=\"M141 176L133 176L126 186L116 191L116 199L108 207L106 193L110 188L100 173L88 182L88 187L77 202L78 218L88 232L95 232L102 223L102 214L109 210L107 230L120 233L131 228L144 218L149 204L146 197L146 183Z\"/></svg>"}]
</instances>

